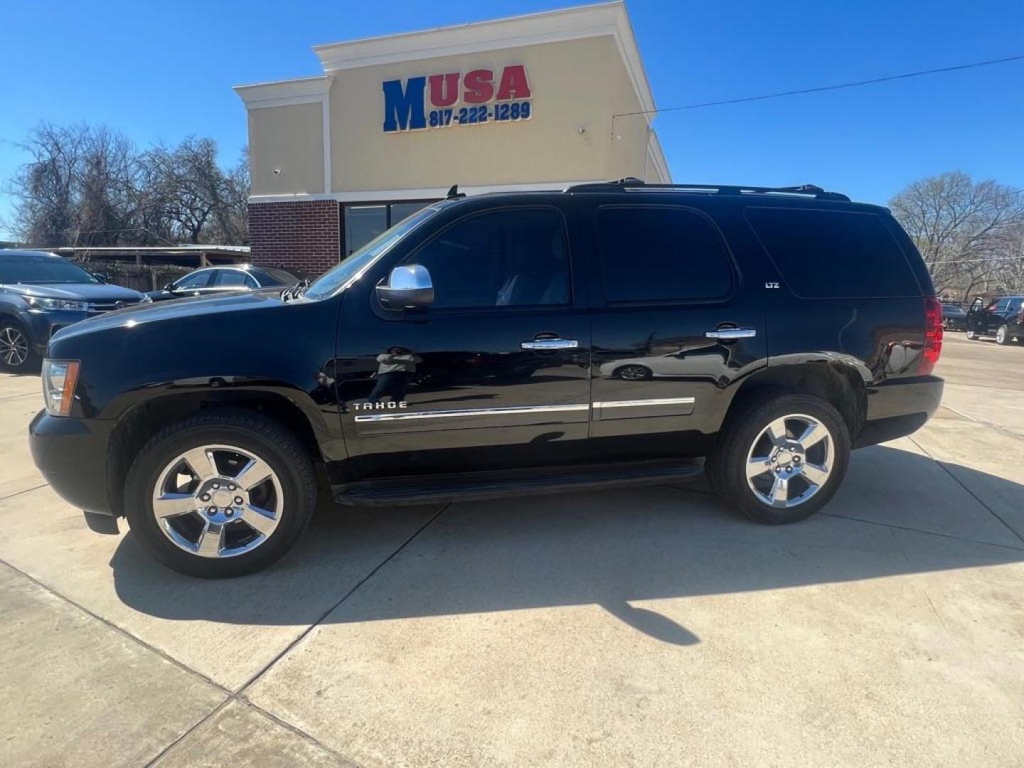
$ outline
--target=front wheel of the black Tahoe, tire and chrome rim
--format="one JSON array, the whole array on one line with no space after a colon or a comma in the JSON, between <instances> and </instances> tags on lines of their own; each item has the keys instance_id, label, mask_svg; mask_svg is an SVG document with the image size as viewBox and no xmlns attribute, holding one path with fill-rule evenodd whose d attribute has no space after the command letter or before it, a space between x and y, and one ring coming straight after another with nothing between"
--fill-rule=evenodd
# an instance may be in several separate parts
<instances>
[{"instance_id":1,"label":"front wheel of the black Tahoe, tire and chrome rim","mask_svg":"<svg viewBox=\"0 0 1024 768\"><path fill-rule=\"evenodd\" d=\"M205 479L193 462L205 467ZM308 452L281 424L255 412L213 410L145 444L128 470L124 501L132 532L157 560L186 575L221 579L265 568L292 548L316 506L316 480ZM158 519L155 508L169 505L184 511Z\"/></svg>"}]
</instances>

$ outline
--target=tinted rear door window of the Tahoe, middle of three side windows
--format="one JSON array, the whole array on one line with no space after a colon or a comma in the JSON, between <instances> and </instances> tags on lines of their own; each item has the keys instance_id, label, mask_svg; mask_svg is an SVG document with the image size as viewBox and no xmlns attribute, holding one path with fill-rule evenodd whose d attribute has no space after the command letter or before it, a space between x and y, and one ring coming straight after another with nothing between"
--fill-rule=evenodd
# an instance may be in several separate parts
<instances>
[{"instance_id":1,"label":"tinted rear door window of the Tahoe, middle of three side windows","mask_svg":"<svg viewBox=\"0 0 1024 768\"><path fill-rule=\"evenodd\" d=\"M602 208L601 268L608 303L716 299L732 272L708 219L679 208Z\"/></svg>"}]
</instances>

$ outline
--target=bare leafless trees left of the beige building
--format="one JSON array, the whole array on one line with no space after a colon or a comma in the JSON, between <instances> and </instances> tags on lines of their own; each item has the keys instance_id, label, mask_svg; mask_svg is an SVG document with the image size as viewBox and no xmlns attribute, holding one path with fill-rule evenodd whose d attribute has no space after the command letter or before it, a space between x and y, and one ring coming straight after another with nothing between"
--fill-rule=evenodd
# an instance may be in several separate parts
<instances>
[{"instance_id":1,"label":"bare leafless trees left of the beige building","mask_svg":"<svg viewBox=\"0 0 1024 768\"><path fill-rule=\"evenodd\" d=\"M139 153L106 127L42 124L20 147L12 228L33 245L248 242L248 163L222 170L212 139Z\"/></svg>"}]
</instances>

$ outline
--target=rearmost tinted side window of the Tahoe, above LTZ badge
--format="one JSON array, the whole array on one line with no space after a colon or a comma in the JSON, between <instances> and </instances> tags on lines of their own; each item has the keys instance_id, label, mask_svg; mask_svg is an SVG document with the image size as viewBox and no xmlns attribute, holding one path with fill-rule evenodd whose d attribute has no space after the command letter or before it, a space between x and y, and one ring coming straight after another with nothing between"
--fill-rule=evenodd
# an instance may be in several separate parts
<instances>
[{"instance_id":1,"label":"rearmost tinted side window of the Tahoe, above LTZ badge","mask_svg":"<svg viewBox=\"0 0 1024 768\"><path fill-rule=\"evenodd\" d=\"M873 213L748 208L746 220L798 296L921 295L906 256Z\"/></svg>"}]
</instances>

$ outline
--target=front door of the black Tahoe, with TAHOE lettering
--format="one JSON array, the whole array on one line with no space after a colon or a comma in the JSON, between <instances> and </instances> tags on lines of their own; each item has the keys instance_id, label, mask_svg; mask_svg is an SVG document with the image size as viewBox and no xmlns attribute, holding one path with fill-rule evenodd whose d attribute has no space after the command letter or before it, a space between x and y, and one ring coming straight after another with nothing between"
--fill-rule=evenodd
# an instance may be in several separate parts
<instances>
[{"instance_id":1,"label":"front door of the black Tahoe, with TAHOE lettering","mask_svg":"<svg viewBox=\"0 0 1024 768\"><path fill-rule=\"evenodd\" d=\"M426 309L346 295L334 378L360 477L566 462L590 412L590 330L566 217L487 208L382 267L425 267Z\"/></svg>"}]
</instances>

